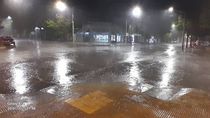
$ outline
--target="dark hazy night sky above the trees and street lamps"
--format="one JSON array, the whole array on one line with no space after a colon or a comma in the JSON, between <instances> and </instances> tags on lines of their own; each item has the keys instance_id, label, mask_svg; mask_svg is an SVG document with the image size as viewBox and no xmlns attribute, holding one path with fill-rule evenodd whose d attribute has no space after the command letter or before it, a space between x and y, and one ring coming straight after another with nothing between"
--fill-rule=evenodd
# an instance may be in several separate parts
<instances>
[{"instance_id":1,"label":"dark hazy night sky above the trees and street lamps","mask_svg":"<svg viewBox=\"0 0 210 118\"><path fill-rule=\"evenodd\" d=\"M6 2L7 1L7 2ZM0 18L12 16L18 30L32 29L45 19L53 16L55 0L22 0L25 3L8 4L12 0L0 0ZM64 0L65 1L65 0ZM77 23L102 21L123 23L129 10L134 5L140 5L144 12L157 16L169 6L186 12L189 17L197 17L202 0L66 0L73 6ZM153 16L153 15L152 15Z\"/></svg>"}]
</instances>

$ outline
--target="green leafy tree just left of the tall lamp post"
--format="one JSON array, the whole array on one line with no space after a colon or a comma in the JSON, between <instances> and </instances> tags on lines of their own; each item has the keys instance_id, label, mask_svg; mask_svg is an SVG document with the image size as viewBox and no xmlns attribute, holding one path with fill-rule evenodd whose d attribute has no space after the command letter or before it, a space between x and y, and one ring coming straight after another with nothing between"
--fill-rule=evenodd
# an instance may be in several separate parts
<instances>
[{"instance_id":1,"label":"green leafy tree just left of the tall lamp post","mask_svg":"<svg viewBox=\"0 0 210 118\"><path fill-rule=\"evenodd\" d=\"M45 22L48 40L67 40L71 34L71 23L65 18Z\"/></svg>"}]
</instances>

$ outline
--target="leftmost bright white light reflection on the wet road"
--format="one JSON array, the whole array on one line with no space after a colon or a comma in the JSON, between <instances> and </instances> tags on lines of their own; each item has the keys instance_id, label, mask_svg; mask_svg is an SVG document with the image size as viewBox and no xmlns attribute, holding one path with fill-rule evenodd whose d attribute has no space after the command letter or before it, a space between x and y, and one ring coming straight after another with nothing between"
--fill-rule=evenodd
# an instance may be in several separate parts
<instances>
[{"instance_id":1,"label":"leftmost bright white light reflection on the wet road","mask_svg":"<svg viewBox=\"0 0 210 118\"><path fill-rule=\"evenodd\" d=\"M11 68L12 75L12 87L16 93L24 94L28 91L28 83L26 78L26 72L23 64L15 65Z\"/></svg>"}]
</instances>

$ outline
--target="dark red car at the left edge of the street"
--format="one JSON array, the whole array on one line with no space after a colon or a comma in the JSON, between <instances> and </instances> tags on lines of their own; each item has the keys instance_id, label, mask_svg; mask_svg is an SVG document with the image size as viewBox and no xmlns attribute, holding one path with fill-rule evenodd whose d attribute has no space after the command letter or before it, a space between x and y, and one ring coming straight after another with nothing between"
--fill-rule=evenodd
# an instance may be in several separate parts
<instances>
[{"instance_id":1,"label":"dark red car at the left edge of the street","mask_svg":"<svg viewBox=\"0 0 210 118\"><path fill-rule=\"evenodd\" d=\"M2 36L0 37L0 46L15 47L15 41L10 36Z\"/></svg>"}]
</instances>

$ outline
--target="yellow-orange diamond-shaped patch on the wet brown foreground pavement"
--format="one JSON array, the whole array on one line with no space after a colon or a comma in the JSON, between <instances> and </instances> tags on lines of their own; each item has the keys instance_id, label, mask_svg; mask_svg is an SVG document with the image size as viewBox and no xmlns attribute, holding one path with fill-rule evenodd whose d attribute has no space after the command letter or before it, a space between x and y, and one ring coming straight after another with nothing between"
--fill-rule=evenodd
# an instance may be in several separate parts
<instances>
[{"instance_id":1,"label":"yellow-orange diamond-shaped patch on the wet brown foreground pavement","mask_svg":"<svg viewBox=\"0 0 210 118\"><path fill-rule=\"evenodd\" d=\"M89 93L73 101L72 99L66 100L66 103L87 114L92 114L111 102L113 102L113 100L106 97L106 94L101 91Z\"/></svg>"}]
</instances>

